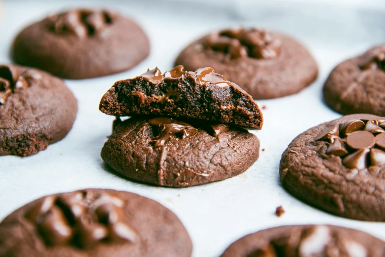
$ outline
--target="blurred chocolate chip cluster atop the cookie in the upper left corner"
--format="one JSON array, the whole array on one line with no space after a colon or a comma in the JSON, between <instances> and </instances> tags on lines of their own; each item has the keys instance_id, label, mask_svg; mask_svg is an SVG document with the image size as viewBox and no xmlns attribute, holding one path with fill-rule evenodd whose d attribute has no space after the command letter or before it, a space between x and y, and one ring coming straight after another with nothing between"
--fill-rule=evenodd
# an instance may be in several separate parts
<instances>
[{"instance_id":1,"label":"blurred chocolate chip cluster atop the cookie in the upper left corner","mask_svg":"<svg viewBox=\"0 0 385 257\"><path fill-rule=\"evenodd\" d=\"M70 10L47 18L52 32L70 33L79 38L102 32L112 21L109 12L91 10Z\"/></svg>"}]
</instances>

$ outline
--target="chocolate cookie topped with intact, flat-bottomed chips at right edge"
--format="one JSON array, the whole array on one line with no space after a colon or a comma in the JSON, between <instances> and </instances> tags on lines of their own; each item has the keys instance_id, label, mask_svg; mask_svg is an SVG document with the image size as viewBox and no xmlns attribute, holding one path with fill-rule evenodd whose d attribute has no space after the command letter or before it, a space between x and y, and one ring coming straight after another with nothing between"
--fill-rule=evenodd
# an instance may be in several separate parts
<instances>
[{"instance_id":1,"label":"chocolate cookie topped with intact, flat-bottomed chips at right edge","mask_svg":"<svg viewBox=\"0 0 385 257\"><path fill-rule=\"evenodd\" d=\"M355 114L310 128L282 155L281 182L332 214L385 221L385 118Z\"/></svg>"}]
</instances>

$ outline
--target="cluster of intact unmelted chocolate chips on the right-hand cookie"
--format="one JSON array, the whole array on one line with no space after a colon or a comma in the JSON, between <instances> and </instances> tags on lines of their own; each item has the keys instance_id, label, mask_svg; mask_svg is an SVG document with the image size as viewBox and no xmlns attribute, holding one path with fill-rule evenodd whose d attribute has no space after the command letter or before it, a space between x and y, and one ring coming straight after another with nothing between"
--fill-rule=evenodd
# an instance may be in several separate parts
<instances>
[{"instance_id":1,"label":"cluster of intact unmelted chocolate chips on the right-hand cookie","mask_svg":"<svg viewBox=\"0 0 385 257\"><path fill-rule=\"evenodd\" d=\"M383 120L352 120L325 128L314 140L329 143L326 154L340 156L348 168L385 164Z\"/></svg>"}]
</instances>

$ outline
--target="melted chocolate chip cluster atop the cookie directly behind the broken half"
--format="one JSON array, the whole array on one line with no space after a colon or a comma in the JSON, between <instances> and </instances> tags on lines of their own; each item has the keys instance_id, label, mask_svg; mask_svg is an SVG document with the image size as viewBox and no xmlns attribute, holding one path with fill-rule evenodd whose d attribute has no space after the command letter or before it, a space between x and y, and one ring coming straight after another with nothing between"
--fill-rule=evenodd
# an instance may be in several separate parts
<instances>
[{"instance_id":1,"label":"melted chocolate chip cluster atop the cookie directly behind the broken half","mask_svg":"<svg viewBox=\"0 0 385 257\"><path fill-rule=\"evenodd\" d=\"M281 40L257 29L230 29L212 34L204 42L206 48L223 52L231 59L272 59L281 52Z\"/></svg>"}]
</instances>

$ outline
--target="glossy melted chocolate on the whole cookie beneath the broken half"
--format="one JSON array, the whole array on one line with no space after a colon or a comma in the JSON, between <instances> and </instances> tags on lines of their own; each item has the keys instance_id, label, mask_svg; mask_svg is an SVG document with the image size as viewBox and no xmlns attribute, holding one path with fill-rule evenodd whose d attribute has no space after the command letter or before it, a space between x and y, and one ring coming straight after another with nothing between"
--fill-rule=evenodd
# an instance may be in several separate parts
<instances>
[{"instance_id":1,"label":"glossy melted chocolate on the whole cookie beneath the broken half","mask_svg":"<svg viewBox=\"0 0 385 257\"><path fill-rule=\"evenodd\" d=\"M153 126L159 126L161 129L159 135L153 140L156 147L164 145L177 134L180 134L181 138L184 139L198 133L198 129L192 125L172 118L154 118L148 120L148 123Z\"/></svg>"}]
</instances>

